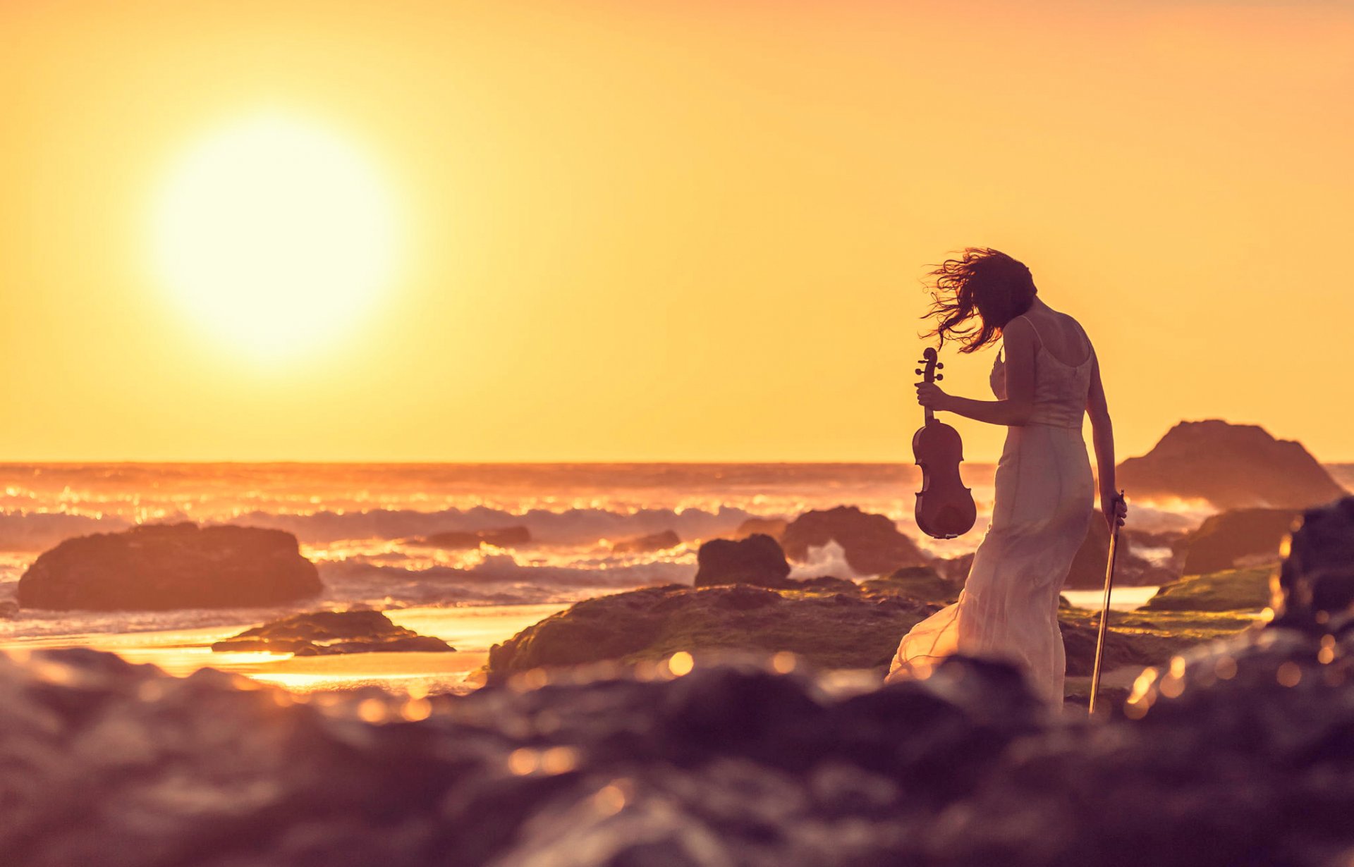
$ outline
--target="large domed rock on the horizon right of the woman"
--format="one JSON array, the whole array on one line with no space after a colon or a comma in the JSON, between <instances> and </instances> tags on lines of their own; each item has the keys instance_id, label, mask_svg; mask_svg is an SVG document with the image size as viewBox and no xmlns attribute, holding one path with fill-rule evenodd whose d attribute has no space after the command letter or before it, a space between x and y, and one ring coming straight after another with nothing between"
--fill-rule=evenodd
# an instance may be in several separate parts
<instances>
[{"instance_id":1,"label":"large domed rock on the horizon right of the woman","mask_svg":"<svg viewBox=\"0 0 1354 867\"><path fill-rule=\"evenodd\" d=\"M1143 457L1118 465L1132 496L1202 498L1219 509L1305 509L1346 494L1300 442L1258 425L1181 422Z\"/></svg>"}]
</instances>

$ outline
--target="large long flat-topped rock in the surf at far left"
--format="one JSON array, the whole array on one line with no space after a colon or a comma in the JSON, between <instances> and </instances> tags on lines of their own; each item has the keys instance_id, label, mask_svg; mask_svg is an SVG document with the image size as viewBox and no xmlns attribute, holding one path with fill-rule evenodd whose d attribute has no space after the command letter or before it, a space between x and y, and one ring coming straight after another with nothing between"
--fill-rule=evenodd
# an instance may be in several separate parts
<instances>
[{"instance_id":1,"label":"large long flat-topped rock in the surf at far left","mask_svg":"<svg viewBox=\"0 0 1354 867\"><path fill-rule=\"evenodd\" d=\"M291 533L175 523L68 538L28 567L18 598L26 609L238 609L320 590Z\"/></svg>"}]
</instances>

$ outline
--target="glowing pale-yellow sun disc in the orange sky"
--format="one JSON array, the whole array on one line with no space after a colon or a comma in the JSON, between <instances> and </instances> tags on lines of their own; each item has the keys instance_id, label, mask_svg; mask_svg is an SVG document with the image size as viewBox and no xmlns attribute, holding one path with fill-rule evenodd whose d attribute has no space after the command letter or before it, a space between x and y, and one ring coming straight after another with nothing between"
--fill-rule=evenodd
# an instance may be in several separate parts
<instances>
[{"instance_id":1,"label":"glowing pale-yellow sun disc in the orange sky","mask_svg":"<svg viewBox=\"0 0 1354 867\"><path fill-rule=\"evenodd\" d=\"M360 325L389 287L389 184L343 135L267 115L206 137L153 208L158 280L187 315L267 360Z\"/></svg>"}]
</instances>

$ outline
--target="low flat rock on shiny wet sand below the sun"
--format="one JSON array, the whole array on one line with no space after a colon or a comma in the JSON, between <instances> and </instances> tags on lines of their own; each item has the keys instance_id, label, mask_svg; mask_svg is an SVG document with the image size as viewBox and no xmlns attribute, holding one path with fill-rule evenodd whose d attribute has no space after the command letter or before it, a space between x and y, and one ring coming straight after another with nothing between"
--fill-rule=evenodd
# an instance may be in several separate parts
<instances>
[{"instance_id":1,"label":"low flat rock on shiny wet sand below the sun","mask_svg":"<svg viewBox=\"0 0 1354 867\"><path fill-rule=\"evenodd\" d=\"M211 645L213 651L265 651L297 656L334 653L445 653L450 644L397 626L380 611L310 611L246 629Z\"/></svg>"}]
</instances>

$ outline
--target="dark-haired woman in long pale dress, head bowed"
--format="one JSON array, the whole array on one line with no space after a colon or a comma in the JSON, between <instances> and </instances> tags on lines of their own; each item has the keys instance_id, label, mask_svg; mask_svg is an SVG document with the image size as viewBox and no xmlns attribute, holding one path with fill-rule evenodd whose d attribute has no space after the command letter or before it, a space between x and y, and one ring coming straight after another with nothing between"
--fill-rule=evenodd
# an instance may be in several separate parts
<instances>
[{"instance_id":1,"label":"dark-haired woman in long pale dress, head bowed","mask_svg":"<svg viewBox=\"0 0 1354 867\"><path fill-rule=\"evenodd\" d=\"M1122 525L1114 492L1114 437L1099 361L1086 331L1037 296L1029 268L969 248L934 272L932 335L971 353L1002 341L992 364L997 400L974 400L918 383L917 402L1006 426L992 522L974 553L959 602L917 624L898 645L890 680L926 676L951 653L1014 661L1049 705L1063 703L1057 594L1093 515L1094 480L1082 414L1090 413L1099 503ZM1005 357L1003 357L1005 356Z\"/></svg>"}]
</instances>

